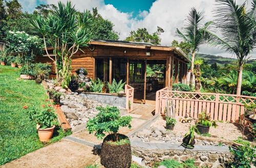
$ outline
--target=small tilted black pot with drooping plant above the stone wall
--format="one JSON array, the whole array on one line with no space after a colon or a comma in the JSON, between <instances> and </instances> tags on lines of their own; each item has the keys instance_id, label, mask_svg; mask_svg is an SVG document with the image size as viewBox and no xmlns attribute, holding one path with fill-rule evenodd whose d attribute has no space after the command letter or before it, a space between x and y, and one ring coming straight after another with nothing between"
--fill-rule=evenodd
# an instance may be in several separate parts
<instances>
[{"instance_id":1,"label":"small tilted black pot with drooping plant above the stone wall","mask_svg":"<svg viewBox=\"0 0 256 168\"><path fill-rule=\"evenodd\" d=\"M197 124L190 126L188 132L182 139L182 146L188 149L194 149L195 141L195 131L197 130Z\"/></svg>"}]
</instances>

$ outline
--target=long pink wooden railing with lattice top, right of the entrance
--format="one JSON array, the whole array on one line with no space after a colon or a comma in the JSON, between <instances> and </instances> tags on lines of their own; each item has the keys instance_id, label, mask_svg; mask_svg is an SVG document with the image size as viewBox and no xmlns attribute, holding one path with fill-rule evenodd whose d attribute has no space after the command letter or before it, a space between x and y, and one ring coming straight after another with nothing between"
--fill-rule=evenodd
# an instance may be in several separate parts
<instances>
[{"instance_id":1,"label":"long pink wooden railing with lattice top, right of the entrance","mask_svg":"<svg viewBox=\"0 0 256 168\"><path fill-rule=\"evenodd\" d=\"M245 105L255 104L256 97L171 91L166 87L156 93L156 113L164 114L168 102L174 106L176 116L187 115L197 119L198 114L205 111L215 121L239 122L245 113Z\"/></svg>"}]
</instances>

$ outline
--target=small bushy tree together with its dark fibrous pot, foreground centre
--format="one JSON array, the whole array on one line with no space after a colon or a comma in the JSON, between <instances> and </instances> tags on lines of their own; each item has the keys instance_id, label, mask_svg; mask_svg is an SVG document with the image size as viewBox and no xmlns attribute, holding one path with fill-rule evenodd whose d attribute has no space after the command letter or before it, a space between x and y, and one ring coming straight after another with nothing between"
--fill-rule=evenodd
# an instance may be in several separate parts
<instances>
[{"instance_id":1,"label":"small bushy tree together with its dark fibrous pot, foreground centre","mask_svg":"<svg viewBox=\"0 0 256 168\"><path fill-rule=\"evenodd\" d=\"M132 162L130 140L127 136L119 134L120 127L131 128L131 116L120 116L117 107L97 107L99 113L87 123L90 133L95 132L97 138L103 138L100 152L100 162L106 168L129 168Z\"/></svg>"}]
</instances>

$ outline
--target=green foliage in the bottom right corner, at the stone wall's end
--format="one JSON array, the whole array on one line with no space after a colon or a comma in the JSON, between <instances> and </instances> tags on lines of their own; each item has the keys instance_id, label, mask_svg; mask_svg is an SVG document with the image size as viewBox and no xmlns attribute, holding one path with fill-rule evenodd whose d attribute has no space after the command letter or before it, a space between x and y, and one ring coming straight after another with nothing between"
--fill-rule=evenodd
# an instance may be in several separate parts
<instances>
[{"instance_id":1,"label":"green foliage in the bottom right corner, at the stone wall's end","mask_svg":"<svg viewBox=\"0 0 256 168\"><path fill-rule=\"evenodd\" d=\"M252 148L249 145L238 147L237 150L229 147L229 151L234 155L233 161L229 163L230 167L250 168L251 162L253 163L253 165L256 164L255 148Z\"/></svg>"}]
</instances>

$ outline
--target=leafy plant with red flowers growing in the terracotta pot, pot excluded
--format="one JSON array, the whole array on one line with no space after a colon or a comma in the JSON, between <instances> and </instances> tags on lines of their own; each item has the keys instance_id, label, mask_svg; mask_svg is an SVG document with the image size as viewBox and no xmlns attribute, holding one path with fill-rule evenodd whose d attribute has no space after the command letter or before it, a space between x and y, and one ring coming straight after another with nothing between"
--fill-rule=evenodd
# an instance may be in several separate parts
<instances>
[{"instance_id":1,"label":"leafy plant with red flowers growing in the terracotta pot, pot excluded","mask_svg":"<svg viewBox=\"0 0 256 168\"><path fill-rule=\"evenodd\" d=\"M51 128L58 124L57 115L51 105L42 105L33 117L40 129Z\"/></svg>"}]
</instances>

